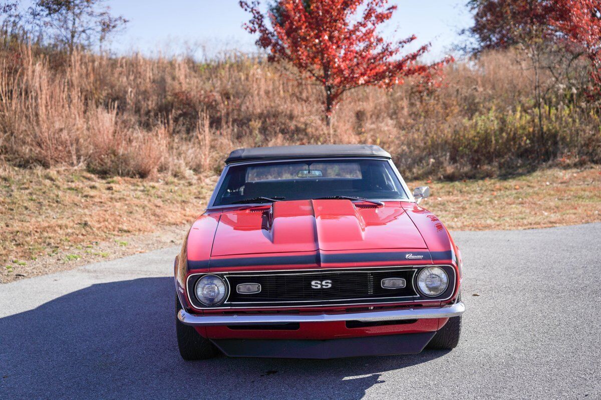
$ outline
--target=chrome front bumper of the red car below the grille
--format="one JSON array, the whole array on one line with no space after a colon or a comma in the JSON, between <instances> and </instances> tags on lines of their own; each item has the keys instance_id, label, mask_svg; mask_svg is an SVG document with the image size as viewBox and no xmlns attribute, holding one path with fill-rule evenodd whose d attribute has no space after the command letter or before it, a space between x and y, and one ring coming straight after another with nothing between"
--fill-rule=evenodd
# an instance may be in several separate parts
<instances>
[{"instance_id":1,"label":"chrome front bumper of the red car below the grille","mask_svg":"<svg viewBox=\"0 0 601 400\"><path fill-rule=\"evenodd\" d=\"M183 324L191 326L220 326L220 325L269 325L301 322L335 322L335 321L390 321L390 320L420 320L423 318L450 318L463 314L463 302L439 308L409 308L389 311L352 312L346 314L231 314L231 315L194 315L183 309L177 318Z\"/></svg>"}]
</instances>

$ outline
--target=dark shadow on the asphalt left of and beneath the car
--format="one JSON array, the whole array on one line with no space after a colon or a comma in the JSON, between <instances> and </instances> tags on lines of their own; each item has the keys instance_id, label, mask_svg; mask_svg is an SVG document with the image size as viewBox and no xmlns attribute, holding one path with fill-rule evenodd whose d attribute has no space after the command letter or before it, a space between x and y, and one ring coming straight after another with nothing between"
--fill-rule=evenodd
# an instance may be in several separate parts
<instances>
[{"instance_id":1,"label":"dark shadow on the asphalt left of and beneath the car","mask_svg":"<svg viewBox=\"0 0 601 400\"><path fill-rule=\"evenodd\" d=\"M447 353L185 362L172 286L172 278L96 284L0 318L0 398L360 399L383 372Z\"/></svg>"}]
</instances>

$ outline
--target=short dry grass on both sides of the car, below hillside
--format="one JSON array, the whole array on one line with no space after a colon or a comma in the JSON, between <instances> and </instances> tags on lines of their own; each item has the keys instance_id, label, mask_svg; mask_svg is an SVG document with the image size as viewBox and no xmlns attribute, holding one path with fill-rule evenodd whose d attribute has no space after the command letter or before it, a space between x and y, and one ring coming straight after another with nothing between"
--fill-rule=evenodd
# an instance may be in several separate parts
<instances>
[{"instance_id":1,"label":"short dry grass on both sides of the car, below hillside","mask_svg":"<svg viewBox=\"0 0 601 400\"><path fill-rule=\"evenodd\" d=\"M82 169L0 169L0 280L13 281L178 245L203 212L215 175L100 179ZM601 221L601 168L429 185L423 205L451 230Z\"/></svg>"}]
</instances>

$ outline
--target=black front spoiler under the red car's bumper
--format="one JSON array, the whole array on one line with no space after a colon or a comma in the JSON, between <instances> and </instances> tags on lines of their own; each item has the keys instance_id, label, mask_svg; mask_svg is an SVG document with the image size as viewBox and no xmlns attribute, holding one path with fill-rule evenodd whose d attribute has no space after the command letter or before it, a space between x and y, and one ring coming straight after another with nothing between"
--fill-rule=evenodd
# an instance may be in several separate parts
<instances>
[{"instance_id":1,"label":"black front spoiler under the red car's bumper","mask_svg":"<svg viewBox=\"0 0 601 400\"><path fill-rule=\"evenodd\" d=\"M328 340L210 339L226 356L292 359L415 354L424 350L436 332L364 336Z\"/></svg>"}]
</instances>

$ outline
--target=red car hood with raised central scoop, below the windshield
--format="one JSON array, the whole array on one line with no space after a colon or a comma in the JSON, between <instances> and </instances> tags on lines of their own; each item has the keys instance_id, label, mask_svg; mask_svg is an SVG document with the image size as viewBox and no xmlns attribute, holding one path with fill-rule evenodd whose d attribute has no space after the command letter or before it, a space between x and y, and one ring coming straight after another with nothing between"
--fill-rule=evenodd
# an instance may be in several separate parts
<instances>
[{"instance_id":1,"label":"red car hood with raised central scoop, below the windshield","mask_svg":"<svg viewBox=\"0 0 601 400\"><path fill-rule=\"evenodd\" d=\"M211 255L401 248L427 246L398 201L297 200L222 212Z\"/></svg>"}]
</instances>

